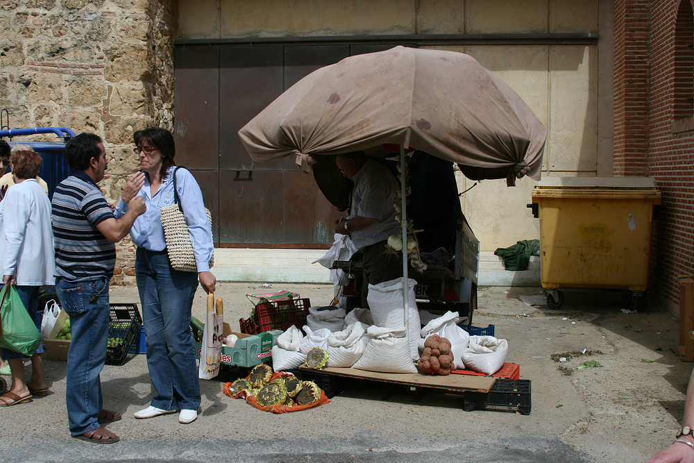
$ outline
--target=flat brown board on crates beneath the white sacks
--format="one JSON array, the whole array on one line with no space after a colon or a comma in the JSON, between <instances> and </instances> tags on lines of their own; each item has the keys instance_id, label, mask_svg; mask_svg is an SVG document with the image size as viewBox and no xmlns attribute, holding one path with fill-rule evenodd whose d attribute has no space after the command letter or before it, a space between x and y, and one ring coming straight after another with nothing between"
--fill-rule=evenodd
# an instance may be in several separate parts
<instances>
[{"instance_id":1,"label":"flat brown board on crates beneath the white sacks","mask_svg":"<svg viewBox=\"0 0 694 463\"><path fill-rule=\"evenodd\" d=\"M299 367L299 369L307 368ZM496 378L489 376L428 376L420 373L378 373L376 371L364 371L355 368L324 368L320 370L320 373L414 387L431 387L432 389L444 389L452 392L472 391L487 393L494 385L494 382L496 382Z\"/></svg>"}]
</instances>

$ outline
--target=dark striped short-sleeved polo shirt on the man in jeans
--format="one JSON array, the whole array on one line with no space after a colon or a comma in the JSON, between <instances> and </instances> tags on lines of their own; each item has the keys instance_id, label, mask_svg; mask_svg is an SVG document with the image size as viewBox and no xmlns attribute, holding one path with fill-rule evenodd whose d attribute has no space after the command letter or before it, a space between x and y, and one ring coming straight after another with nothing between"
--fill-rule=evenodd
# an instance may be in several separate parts
<instances>
[{"instance_id":1,"label":"dark striped short-sleeved polo shirt on the man in jeans","mask_svg":"<svg viewBox=\"0 0 694 463\"><path fill-rule=\"evenodd\" d=\"M94 180L73 171L53 192L53 235L56 276L71 281L111 278L116 245L96 229L105 219L115 219Z\"/></svg>"}]
</instances>

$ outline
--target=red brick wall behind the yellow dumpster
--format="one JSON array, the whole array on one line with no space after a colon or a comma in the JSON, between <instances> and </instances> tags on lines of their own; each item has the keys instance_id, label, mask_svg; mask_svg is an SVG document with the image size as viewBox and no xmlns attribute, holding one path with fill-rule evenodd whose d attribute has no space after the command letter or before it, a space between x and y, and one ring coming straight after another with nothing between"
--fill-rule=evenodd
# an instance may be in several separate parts
<instances>
[{"instance_id":1,"label":"red brick wall behind the yellow dumpster","mask_svg":"<svg viewBox=\"0 0 694 463\"><path fill-rule=\"evenodd\" d=\"M679 303L677 275L694 273L694 131L672 129L679 5L615 3L614 175L652 176L661 189L649 287L673 305Z\"/></svg>"}]
</instances>

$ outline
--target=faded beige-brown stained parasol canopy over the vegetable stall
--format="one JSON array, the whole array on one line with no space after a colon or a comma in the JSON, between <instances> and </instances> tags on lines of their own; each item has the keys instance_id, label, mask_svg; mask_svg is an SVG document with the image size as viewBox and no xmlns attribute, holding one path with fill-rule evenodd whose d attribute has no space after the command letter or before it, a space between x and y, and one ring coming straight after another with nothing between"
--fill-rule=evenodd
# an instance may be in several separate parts
<instances>
[{"instance_id":1,"label":"faded beige-brown stained parasol canopy over the vegetable stall","mask_svg":"<svg viewBox=\"0 0 694 463\"><path fill-rule=\"evenodd\" d=\"M539 180L546 135L523 99L471 56L407 47L321 67L239 131L255 161L294 155L304 170L314 166L324 193L330 181L315 167L323 156L378 155L388 144L455 162L473 180Z\"/></svg>"}]
</instances>

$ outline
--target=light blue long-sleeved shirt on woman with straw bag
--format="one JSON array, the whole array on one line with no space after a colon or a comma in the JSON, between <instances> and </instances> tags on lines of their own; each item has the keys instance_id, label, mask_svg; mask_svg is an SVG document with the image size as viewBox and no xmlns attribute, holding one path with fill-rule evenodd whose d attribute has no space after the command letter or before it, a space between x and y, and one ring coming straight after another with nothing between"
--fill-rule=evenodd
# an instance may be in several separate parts
<instances>
[{"instance_id":1,"label":"light blue long-sleeved shirt on woman with straw bag","mask_svg":"<svg viewBox=\"0 0 694 463\"><path fill-rule=\"evenodd\" d=\"M146 177L144 185L137 194L144 199L147 211L135 219L135 224L130 229L130 237L135 245L149 249L149 251L164 251L167 247L160 209L174 204L174 177L171 174L175 168L175 166L169 167L167 179L159 186L154 195L151 194L149 178ZM214 246L210 221L208 221L208 216L205 213L203 193L187 169L178 169L176 185L181 207L183 207L183 215L188 224L190 242L193 245L198 272L210 271L210 258L212 258ZM127 210L128 206L122 199L119 199L113 212L116 218L120 218Z\"/></svg>"}]
</instances>

